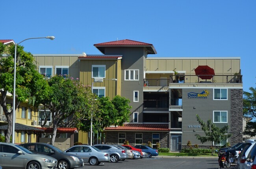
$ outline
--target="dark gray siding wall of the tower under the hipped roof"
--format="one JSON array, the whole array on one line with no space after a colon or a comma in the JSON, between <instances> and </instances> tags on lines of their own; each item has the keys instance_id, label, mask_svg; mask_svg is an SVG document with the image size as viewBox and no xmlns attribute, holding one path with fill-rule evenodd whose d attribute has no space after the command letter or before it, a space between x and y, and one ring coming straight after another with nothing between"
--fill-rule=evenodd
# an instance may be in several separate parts
<instances>
[{"instance_id":1,"label":"dark gray siding wall of the tower under the hipped roof","mask_svg":"<svg viewBox=\"0 0 256 169\"><path fill-rule=\"evenodd\" d=\"M132 106L130 121L133 122L133 112L139 113L139 122L142 122L143 116L143 75L144 75L144 47L106 47L105 55L122 55L121 61L121 96L128 98ZM124 70L139 69L139 80L124 80ZM134 91L139 91L139 102L133 102Z\"/></svg>"}]
</instances>

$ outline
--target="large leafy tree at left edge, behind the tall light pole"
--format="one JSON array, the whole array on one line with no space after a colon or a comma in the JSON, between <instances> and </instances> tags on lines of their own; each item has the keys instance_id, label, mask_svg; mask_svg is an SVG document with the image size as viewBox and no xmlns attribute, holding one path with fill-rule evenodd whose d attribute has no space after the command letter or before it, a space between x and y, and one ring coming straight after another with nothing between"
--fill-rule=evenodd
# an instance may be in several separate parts
<instances>
[{"instance_id":1,"label":"large leafy tree at left edge, behind the tall light pole","mask_svg":"<svg viewBox=\"0 0 256 169\"><path fill-rule=\"evenodd\" d=\"M10 142L13 109L16 110L20 102L27 99L29 103L35 102L36 97L45 96L47 91L46 81L36 70L33 55L17 45L15 105L7 104L7 93L13 93L14 55L14 45L7 47L0 43L0 104L8 122L5 142Z\"/></svg>"}]
</instances>

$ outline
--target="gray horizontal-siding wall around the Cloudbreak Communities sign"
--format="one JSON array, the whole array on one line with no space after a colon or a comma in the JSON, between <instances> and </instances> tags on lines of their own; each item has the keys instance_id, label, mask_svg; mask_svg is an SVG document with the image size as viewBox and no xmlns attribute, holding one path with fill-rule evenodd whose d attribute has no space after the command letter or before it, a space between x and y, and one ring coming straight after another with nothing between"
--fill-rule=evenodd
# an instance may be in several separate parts
<instances>
[{"instance_id":1,"label":"gray horizontal-siding wall around the Cloudbreak Communities sign","mask_svg":"<svg viewBox=\"0 0 256 169\"><path fill-rule=\"evenodd\" d=\"M206 99L187 97L187 93L201 93L204 90L209 91L209 96ZM186 145L188 140L191 141L192 145L201 145L195 134L204 135L204 131L200 128L188 127L188 125L199 125L196 114L198 114L204 122L207 122L208 119L213 121L213 111L228 111L228 123L215 124L217 127L224 127L225 125L230 126L230 98L230 89L228 89L228 100L213 100L213 89L182 89L182 145ZM194 129L195 132L193 131ZM228 133L230 133L230 129ZM228 142L230 142L230 139L228 139ZM203 145L211 145L211 142L204 143Z\"/></svg>"}]
</instances>

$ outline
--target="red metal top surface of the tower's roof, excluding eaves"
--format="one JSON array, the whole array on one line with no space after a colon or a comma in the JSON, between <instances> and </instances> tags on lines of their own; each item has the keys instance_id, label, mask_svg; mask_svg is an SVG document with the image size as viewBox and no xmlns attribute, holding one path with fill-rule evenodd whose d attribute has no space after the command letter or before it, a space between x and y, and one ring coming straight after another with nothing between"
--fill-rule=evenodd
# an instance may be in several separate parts
<instances>
[{"instance_id":1,"label":"red metal top surface of the tower's roof, excluding eaves","mask_svg":"<svg viewBox=\"0 0 256 169\"><path fill-rule=\"evenodd\" d=\"M129 39L124 39L124 40L117 40L117 41L112 41L112 42L104 42L100 44L94 44L95 46L106 46L106 45L152 45L152 44L147 44L144 42L138 42L134 40L129 40Z\"/></svg>"}]
</instances>

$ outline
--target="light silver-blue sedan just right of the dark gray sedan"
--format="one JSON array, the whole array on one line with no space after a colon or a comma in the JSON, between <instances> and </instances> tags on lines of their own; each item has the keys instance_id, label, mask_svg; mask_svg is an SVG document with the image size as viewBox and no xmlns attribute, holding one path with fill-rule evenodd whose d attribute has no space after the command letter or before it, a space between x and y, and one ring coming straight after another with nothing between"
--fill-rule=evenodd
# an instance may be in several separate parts
<instances>
[{"instance_id":1,"label":"light silver-blue sedan just right of the dark gray sedan","mask_svg":"<svg viewBox=\"0 0 256 169\"><path fill-rule=\"evenodd\" d=\"M90 165L99 165L101 162L110 161L109 153L103 152L91 145L74 145L65 152L80 156L84 162L89 162Z\"/></svg>"}]
</instances>

